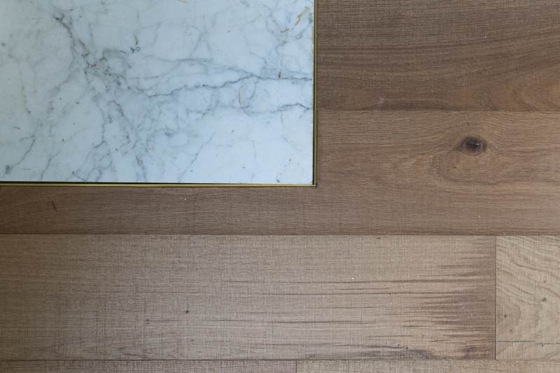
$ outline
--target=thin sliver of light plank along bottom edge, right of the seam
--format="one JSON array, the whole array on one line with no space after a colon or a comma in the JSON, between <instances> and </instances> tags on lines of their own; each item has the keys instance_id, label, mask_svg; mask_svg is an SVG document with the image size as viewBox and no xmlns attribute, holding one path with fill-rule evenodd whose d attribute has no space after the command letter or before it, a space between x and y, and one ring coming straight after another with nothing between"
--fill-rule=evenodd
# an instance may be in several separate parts
<instances>
[{"instance_id":1,"label":"thin sliver of light plank along bottom edge, right of the seam","mask_svg":"<svg viewBox=\"0 0 560 373\"><path fill-rule=\"evenodd\" d=\"M298 373L556 373L552 361L298 361Z\"/></svg>"}]
</instances>

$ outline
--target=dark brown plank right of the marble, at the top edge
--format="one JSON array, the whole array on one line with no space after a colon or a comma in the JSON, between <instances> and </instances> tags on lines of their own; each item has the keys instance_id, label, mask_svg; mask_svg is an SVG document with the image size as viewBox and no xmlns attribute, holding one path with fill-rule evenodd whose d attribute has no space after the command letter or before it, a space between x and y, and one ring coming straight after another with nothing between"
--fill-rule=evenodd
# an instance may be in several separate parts
<instances>
[{"instance_id":1,"label":"dark brown plank right of the marble, at the top edge","mask_svg":"<svg viewBox=\"0 0 560 373\"><path fill-rule=\"evenodd\" d=\"M560 108L560 3L318 2L318 108Z\"/></svg>"}]
</instances>

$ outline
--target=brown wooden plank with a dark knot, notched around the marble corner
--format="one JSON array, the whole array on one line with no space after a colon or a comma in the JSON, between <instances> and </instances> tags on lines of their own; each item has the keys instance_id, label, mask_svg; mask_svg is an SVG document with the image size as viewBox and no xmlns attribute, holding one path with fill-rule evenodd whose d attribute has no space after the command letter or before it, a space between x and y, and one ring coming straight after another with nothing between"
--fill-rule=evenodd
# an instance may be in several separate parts
<instances>
[{"instance_id":1,"label":"brown wooden plank with a dark knot, notched around the marble corner","mask_svg":"<svg viewBox=\"0 0 560 373\"><path fill-rule=\"evenodd\" d=\"M560 234L560 113L320 111L318 188L0 188L0 232Z\"/></svg>"}]
</instances>

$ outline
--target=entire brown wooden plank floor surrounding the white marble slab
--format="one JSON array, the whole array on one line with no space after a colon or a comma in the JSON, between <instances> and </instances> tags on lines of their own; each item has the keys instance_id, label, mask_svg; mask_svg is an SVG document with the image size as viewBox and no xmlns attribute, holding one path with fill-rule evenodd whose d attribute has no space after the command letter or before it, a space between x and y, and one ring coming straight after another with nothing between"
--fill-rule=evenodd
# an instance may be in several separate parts
<instances>
[{"instance_id":1,"label":"entire brown wooden plank floor surrounding the white marble slab","mask_svg":"<svg viewBox=\"0 0 560 373\"><path fill-rule=\"evenodd\" d=\"M0 372L560 372L560 2L317 1L317 188L0 187Z\"/></svg>"}]
</instances>

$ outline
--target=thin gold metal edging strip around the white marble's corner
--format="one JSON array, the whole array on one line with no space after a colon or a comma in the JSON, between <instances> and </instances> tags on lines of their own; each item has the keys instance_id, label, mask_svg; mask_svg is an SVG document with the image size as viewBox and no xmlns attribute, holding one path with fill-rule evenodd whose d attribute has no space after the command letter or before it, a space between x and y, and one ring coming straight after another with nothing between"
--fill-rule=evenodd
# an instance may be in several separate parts
<instances>
[{"instance_id":1,"label":"thin gold metal edging strip around the white marble's corner","mask_svg":"<svg viewBox=\"0 0 560 373\"><path fill-rule=\"evenodd\" d=\"M206 184L206 183L43 183L3 182L2 186L122 187L122 188L309 188L317 186L317 1L313 27L313 183L311 184Z\"/></svg>"}]
</instances>

